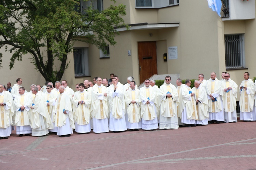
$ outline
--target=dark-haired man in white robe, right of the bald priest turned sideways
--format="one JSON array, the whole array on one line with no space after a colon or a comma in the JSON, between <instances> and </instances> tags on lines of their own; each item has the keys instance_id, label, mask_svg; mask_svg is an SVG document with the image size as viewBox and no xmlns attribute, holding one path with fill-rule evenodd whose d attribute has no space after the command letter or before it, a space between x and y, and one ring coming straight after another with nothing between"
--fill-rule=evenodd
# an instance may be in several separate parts
<instances>
[{"instance_id":1,"label":"dark-haired man in white robe, right of the bald priest turned sideways","mask_svg":"<svg viewBox=\"0 0 256 170\"><path fill-rule=\"evenodd\" d=\"M75 118L75 132L78 134L87 134L91 132L90 125L90 105L91 95L84 90L84 84L77 85L79 91L75 92L73 97L73 114Z\"/></svg>"}]
</instances>

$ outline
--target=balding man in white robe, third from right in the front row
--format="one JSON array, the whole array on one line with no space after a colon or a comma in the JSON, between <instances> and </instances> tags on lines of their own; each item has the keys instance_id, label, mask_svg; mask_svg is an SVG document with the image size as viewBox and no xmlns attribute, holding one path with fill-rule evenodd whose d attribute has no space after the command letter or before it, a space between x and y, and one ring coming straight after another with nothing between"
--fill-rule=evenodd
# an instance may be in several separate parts
<instances>
[{"instance_id":1,"label":"balding man in white robe, third from right in the front row","mask_svg":"<svg viewBox=\"0 0 256 170\"><path fill-rule=\"evenodd\" d=\"M221 99L221 96L223 95L223 90L221 86L221 81L216 78L216 73L211 73L211 78L207 80L205 90L207 93L209 104L209 124L223 123L224 111Z\"/></svg>"}]
</instances>

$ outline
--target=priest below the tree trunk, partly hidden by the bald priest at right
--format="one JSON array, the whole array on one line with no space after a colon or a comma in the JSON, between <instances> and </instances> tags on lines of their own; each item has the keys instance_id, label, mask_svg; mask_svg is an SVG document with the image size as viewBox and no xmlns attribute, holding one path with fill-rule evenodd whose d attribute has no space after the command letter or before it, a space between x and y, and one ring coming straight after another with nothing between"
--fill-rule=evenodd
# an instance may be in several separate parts
<instances>
[{"instance_id":1,"label":"priest below the tree trunk, partly hidden by the bald priest at right","mask_svg":"<svg viewBox=\"0 0 256 170\"><path fill-rule=\"evenodd\" d=\"M50 114L50 117L52 119L52 122L53 124L55 124L55 118L54 118L55 104L56 104L58 92L53 90L53 87L51 84L48 84L45 89L46 89L46 92L44 93L44 102ZM52 132L55 135L57 135L58 127L54 126L52 129L49 129L49 132Z\"/></svg>"}]
</instances>

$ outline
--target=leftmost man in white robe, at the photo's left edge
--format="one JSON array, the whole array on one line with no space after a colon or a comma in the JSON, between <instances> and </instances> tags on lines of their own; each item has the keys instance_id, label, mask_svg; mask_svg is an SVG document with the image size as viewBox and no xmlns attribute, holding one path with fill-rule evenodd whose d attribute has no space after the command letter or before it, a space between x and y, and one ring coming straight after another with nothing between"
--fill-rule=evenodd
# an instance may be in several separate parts
<instances>
[{"instance_id":1,"label":"leftmost man in white robe, at the photo's left edge","mask_svg":"<svg viewBox=\"0 0 256 170\"><path fill-rule=\"evenodd\" d=\"M9 91L3 90L3 84L0 84L0 139L8 139L11 134L13 99Z\"/></svg>"}]
</instances>

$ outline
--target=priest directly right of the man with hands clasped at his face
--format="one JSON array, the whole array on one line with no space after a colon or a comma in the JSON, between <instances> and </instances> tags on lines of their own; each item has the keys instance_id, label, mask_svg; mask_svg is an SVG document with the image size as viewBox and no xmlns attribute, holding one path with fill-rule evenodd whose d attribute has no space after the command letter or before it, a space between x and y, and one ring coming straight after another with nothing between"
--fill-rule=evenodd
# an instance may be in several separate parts
<instances>
[{"instance_id":1,"label":"priest directly right of the man with hands clasped at his face","mask_svg":"<svg viewBox=\"0 0 256 170\"><path fill-rule=\"evenodd\" d=\"M140 90L135 88L136 82L130 82L130 89L125 93L125 103L126 103L126 127L130 131L138 131L142 128L141 124L141 113L140 113Z\"/></svg>"}]
</instances>

